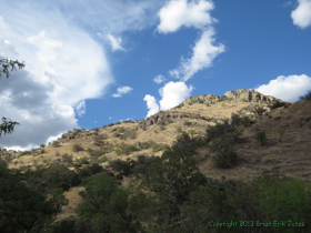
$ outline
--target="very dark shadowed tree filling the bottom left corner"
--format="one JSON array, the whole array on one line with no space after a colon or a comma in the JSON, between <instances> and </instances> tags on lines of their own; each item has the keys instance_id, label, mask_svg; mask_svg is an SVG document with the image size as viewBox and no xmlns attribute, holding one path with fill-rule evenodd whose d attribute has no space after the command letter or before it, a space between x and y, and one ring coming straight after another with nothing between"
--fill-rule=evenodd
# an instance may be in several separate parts
<instances>
[{"instance_id":1,"label":"very dark shadowed tree filling the bottom left corner","mask_svg":"<svg viewBox=\"0 0 311 233\"><path fill-rule=\"evenodd\" d=\"M0 232L40 232L58 212L0 161Z\"/></svg>"}]
</instances>

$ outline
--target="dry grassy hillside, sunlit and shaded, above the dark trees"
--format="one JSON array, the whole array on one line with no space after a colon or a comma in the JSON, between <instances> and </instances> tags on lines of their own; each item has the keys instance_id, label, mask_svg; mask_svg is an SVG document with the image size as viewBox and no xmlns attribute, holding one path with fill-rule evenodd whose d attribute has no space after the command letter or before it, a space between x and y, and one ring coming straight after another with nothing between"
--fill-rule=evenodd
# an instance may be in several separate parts
<instances>
[{"instance_id":1,"label":"dry grassy hillside, sunlit and shaded, above the dark trees","mask_svg":"<svg viewBox=\"0 0 311 233\"><path fill-rule=\"evenodd\" d=\"M244 89L230 91L221 98L203 94L189 98L179 107L146 120L118 122L93 131L74 129L57 142L42 145L42 149L26 152L2 150L1 153L10 169L27 170L64 163L73 170L90 162L107 166L116 159L134 159L140 154L161 156L165 146L172 145L181 132L203 136L207 125L230 120L235 113L248 115L254 122L250 126L239 126L241 142L234 148L238 164L232 169L218 169L212 164L209 150L201 148L197 158L203 174L218 179L222 175L247 179L259 175L265 169L278 168L285 175L299 175L310 182L311 103L299 101L289 103L288 108L271 110L269 107L275 102L282 101ZM257 115L255 108L263 108L265 112ZM255 141L257 130L267 132L265 145Z\"/></svg>"}]
</instances>

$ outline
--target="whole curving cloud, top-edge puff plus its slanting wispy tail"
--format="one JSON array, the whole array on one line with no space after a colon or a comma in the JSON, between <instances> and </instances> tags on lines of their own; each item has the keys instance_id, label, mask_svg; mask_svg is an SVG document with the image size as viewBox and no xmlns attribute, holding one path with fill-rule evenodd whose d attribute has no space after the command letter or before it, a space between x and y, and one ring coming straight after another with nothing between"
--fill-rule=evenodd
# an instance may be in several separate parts
<instances>
[{"instance_id":1,"label":"whole curving cloud, top-edge puff plus its slanting wispy tail","mask_svg":"<svg viewBox=\"0 0 311 233\"><path fill-rule=\"evenodd\" d=\"M160 33L178 31L181 27L192 27L201 31L200 39L192 49L192 57L181 58L177 69L170 70L172 77L189 80L194 73L212 65L212 61L224 52L223 44L214 44L214 29L217 22L210 11L214 9L212 0L171 0L159 11Z\"/></svg>"}]
</instances>

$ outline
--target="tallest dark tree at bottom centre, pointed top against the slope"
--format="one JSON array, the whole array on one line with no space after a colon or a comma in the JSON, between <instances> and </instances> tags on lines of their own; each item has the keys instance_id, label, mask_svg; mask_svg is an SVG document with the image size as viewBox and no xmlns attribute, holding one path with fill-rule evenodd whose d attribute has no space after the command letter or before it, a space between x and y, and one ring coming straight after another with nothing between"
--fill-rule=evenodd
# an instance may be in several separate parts
<instances>
[{"instance_id":1,"label":"tallest dark tree at bottom centre, pointed top against the slope","mask_svg":"<svg viewBox=\"0 0 311 233\"><path fill-rule=\"evenodd\" d=\"M183 219L181 207L189 193L205 183L195 166L194 151L193 139L183 133L149 169L143 183L152 196L148 207L154 207L150 216L151 225L156 220L154 231L173 231Z\"/></svg>"}]
</instances>

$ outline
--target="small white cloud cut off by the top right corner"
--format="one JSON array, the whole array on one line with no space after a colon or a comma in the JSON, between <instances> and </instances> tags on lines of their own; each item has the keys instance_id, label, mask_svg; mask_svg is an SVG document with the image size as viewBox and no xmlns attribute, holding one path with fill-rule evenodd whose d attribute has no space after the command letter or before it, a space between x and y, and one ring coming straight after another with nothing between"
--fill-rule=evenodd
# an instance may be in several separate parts
<instances>
[{"instance_id":1,"label":"small white cloud cut off by the top right corner","mask_svg":"<svg viewBox=\"0 0 311 233\"><path fill-rule=\"evenodd\" d=\"M311 0L298 0L298 8L291 12L293 24L304 29L311 26Z\"/></svg>"}]
</instances>

